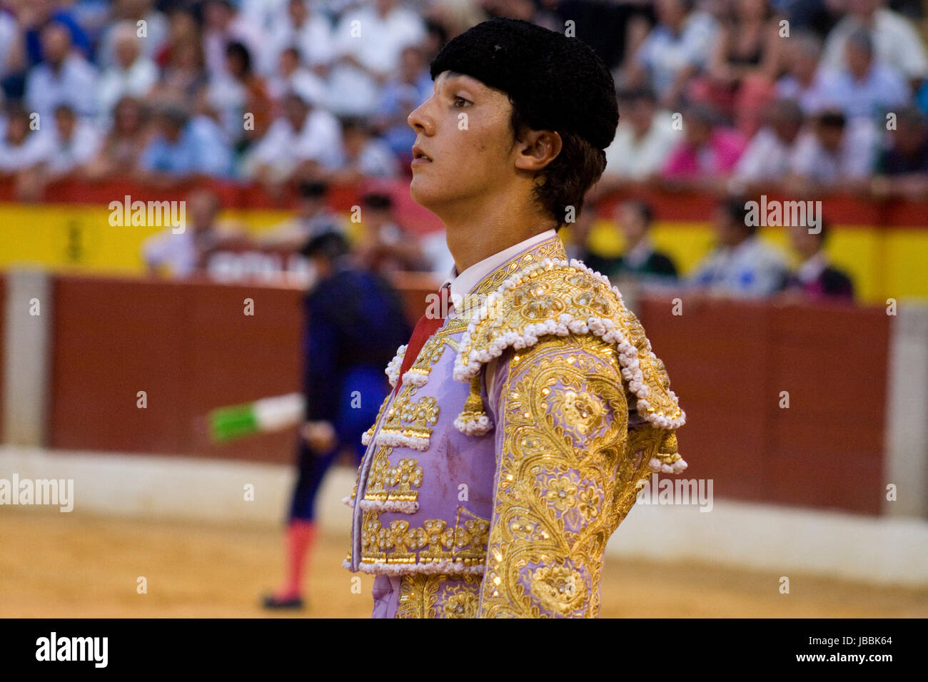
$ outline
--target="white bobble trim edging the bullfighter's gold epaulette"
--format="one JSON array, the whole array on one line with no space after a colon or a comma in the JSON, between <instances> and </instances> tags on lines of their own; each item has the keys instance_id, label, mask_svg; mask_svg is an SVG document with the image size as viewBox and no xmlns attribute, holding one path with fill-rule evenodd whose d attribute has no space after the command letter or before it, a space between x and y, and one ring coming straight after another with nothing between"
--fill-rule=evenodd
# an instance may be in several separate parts
<instances>
[{"instance_id":1,"label":"white bobble trim edging the bullfighter's gold epaulette","mask_svg":"<svg viewBox=\"0 0 928 682\"><path fill-rule=\"evenodd\" d=\"M458 381L469 381L471 377L480 371L480 368L485 363L502 355L503 351L509 348L509 346L516 350L520 350L534 345L540 336L567 336L571 333L591 333L607 343L616 345L619 364L622 367L622 376L628 381L628 390L635 393L638 397L638 414L654 426L664 430L677 429L683 426L686 423L687 416L682 410L680 410L680 416L677 418L665 417L654 412L648 412L648 408L651 407L651 404L647 400L650 390L644 383L644 375L641 373L641 367L638 362L638 349L625 340L625 335L622 333L622 330L616 328L615 322L609 317L589 316L586 320L583 320L575 319L574 315L570 313L561 313L557 320L548 318L544 322L527 325L522 334L518 334L514 331L500 334L490 343L485 351L478 351L476 349L470 350L470 337L476 330L477 325L489 316L489 311L495 307L496 302L506 291L522 283L532 272L542 269L551 270L556 266L570 266L577 270L585 271L590 276L598 278L604 284L609 285L612 292L619 297L619 301L622 301L622 295L617 288L611 286L609 277L605 277L595 270L586 267L585 264L582 264L576 259L572 259L568 262L562 259L548 258L541 263L529 266L521 272L507 278L497 290L487 296L480 310L478 310L476 315L470 320L467 330L463 333L459 341L458 348L460 350L458 351L458 357L455 359L454 378ZM651 354L651 341L648 341L647 347L649 354ZM653 354L651 355L653 356ZM669 394L676 402L676 393L671 391Z\"/></svg>"}]
</instances>

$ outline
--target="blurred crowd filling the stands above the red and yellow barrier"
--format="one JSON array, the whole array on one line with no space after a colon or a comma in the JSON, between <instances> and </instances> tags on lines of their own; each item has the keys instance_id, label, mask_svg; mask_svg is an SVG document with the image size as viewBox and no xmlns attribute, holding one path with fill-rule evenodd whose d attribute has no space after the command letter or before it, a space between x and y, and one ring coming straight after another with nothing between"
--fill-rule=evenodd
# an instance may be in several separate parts
<instances>
[{"instance_id":1,"label":"blurred crowd filling the stands above the red and yellow barrier","mask_svg":"<svg viewBox=\"0 0 928 682\"><path fill-rule=\"evenodd\" d=\"M65 177L209 176L279 199L403 177L432 57L499 15L574 31L612 69L591 202L928 197L918 0L0 0L0 180L35 199Z\"/></svg>"}]
</instances>

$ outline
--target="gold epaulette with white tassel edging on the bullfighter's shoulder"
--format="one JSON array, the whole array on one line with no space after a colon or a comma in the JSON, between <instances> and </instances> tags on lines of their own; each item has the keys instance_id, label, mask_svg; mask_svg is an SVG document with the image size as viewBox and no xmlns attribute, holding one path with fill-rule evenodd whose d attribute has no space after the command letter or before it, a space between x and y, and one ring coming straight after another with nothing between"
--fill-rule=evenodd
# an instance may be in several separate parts
<instances>
[{"instance_id":1,"label":"gold epaulette with white tassel edging on the bullfighter's shoulder","mask_svg":"<svg viewBox=\"0 0 928 682\"><path fill-rule=\"evenodd\" d=\"M625 307L609 278L575 259L546 259L506 279L471 317L454 368L456 380L470 381L465 411L456 420L458 429L486 431L487 419L482 405L478 407L485 363L510 346L520 350L544 336L569 334L593 334L615 347L641 418L666 431L685 423L664 363L651 352L638 317Z\"/></svg>"}]
</instances>

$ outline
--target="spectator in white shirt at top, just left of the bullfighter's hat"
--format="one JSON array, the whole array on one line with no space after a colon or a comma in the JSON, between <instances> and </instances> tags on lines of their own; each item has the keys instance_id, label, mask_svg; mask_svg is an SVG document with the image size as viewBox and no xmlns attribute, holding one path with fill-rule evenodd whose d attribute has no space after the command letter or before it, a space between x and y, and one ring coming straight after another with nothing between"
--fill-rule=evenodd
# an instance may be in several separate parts
<instances>
[{"instance_id":1,"label":"spectator in white shirt at top, just left of the bullfighter's hat","mask_svg":"<svg viewBox=\"0 0 928 682\"><path fill-rule=\"evenodd\" d=\"M375 0L345 12L335 30L329 103L342 116L375 113L380 86L396 72L400 52L425 38L422 19L397 0Z\"/></svg>"}]
</instances>

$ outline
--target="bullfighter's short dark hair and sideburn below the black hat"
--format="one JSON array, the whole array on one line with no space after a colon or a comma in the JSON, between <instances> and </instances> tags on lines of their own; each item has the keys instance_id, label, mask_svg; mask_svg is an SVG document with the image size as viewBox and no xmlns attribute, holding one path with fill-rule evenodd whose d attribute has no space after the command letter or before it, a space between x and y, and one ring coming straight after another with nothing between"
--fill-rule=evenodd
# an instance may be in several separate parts
<instances>
[{"instance_id":1,"label":"bullfighter's short dark hair and sideburn below the black hat","mask_svg":"<svg viewBox=\"0 0 928 682\"><path fill-rule=\"evenodd\" d=\"M521 140L521 135L531 130L531 127L524 121L522 111L511 97L509 102L512 104L509 122L515 139ZM561 135L561 153L535 175L544 180L535 184L532 199L558 222L555 230L560 230L565 225L568 206L574 207L575 218L583 211L586 190L593 187L606 169L606 152L593 147L580 135L560 130L557 132Z\"/></svg>"}]
</instances>

